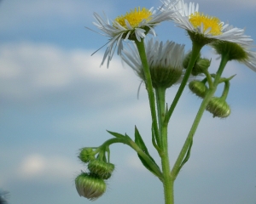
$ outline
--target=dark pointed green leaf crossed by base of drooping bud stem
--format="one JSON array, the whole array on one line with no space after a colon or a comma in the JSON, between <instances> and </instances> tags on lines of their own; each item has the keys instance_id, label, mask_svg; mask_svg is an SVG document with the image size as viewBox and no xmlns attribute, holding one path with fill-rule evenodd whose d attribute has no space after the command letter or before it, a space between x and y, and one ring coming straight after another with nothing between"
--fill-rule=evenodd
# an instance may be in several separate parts
<instances>
[{"instance_id":1,"label":"dark pointed green leaf crossed by base of drooping bud stem","mask_svg":"<svg viewBox=\"0 0 256 204\"><path fill-rule=\"evenodd\" d=\"M149 155L148 148L146 147L143 138L138 132L137 127L135 127L135 143L143 150L143 152L150 158L150 160L154 162L155 166L158 167L160 171L160 167L156 164L152 156ZM139 156L139 154L137 154L137 156L142 161L143 166L146 167L148 171L150 171L151 173L158 177L158 173L154 172L154 169L150 165L148 165L147 161L145 161L142 156Z\"/></svg>"}]
</instances>

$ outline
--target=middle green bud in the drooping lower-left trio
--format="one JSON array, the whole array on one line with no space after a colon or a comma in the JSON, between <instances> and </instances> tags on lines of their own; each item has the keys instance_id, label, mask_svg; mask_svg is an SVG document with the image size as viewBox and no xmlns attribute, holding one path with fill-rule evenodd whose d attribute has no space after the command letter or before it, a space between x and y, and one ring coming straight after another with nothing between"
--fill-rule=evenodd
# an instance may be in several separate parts
<instances>
[{"instance_id":1,"label":"middle green bud in the drooping lower-left trio","mask_svg":"<svg viewBox=\"0 0 256 204\"><path fill-rule=\"evenodd\" d=\"M113 173L114 165L101 160L90 161L88 170L96 174L99 178L108 179Z\"/></svg>"}]
</instances>

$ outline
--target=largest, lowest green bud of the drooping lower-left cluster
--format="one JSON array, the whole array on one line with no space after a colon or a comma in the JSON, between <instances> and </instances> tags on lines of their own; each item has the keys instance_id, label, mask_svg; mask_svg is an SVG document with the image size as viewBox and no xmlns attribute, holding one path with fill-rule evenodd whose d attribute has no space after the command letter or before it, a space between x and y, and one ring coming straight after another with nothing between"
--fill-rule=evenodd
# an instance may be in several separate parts
<instances>
[{"instance_id":1,"label":"largest, lowest green bud of the drooping lower-left cluster","mask_svg":"<svg viewBox=\"0 0 256 204\"><path fill-rule=\"evenodd\" d=\"M88 198L90 201L95 201L107 189L107 184L102 178L89 173L80 173L75 179L75 184L79 195Z\"/></svg>"}]
</instances>

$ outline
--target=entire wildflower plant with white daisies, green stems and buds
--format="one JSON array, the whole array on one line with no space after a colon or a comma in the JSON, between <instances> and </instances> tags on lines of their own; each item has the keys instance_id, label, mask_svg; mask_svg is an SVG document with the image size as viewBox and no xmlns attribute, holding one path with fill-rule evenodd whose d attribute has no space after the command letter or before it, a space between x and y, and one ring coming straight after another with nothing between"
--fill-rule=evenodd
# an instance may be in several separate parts
<instances>
[{"instance_id":1,"label":"entire wildflower plant with white daisies, green stems and buds","mask_svg":"<svg viewBox=\"0 0 256 204\"><path fill-rule=\"evenodd\" d=\"M105 181L114 171L114 165L110 163L110 146L122 143L135 150L143 166L159 178L163 184L165 203L173 204L174 182L183 165L189 160L195 131L204 111L209 111L213 117L230 116L227 96L230 81L235 75L223 77L225 66L230 60L237 60L256 71L253 40L244 34L243 29L224 24L217 17L200 13L198 4L184 3L183 0L166 0L157 11L153 8L134 8L113 21L106 16L103 19L96 13L94 15L96 27L103 31L102 35L110 37L102 64L108 58L109 65L117 47L117 54L145 84L152 119L152 126L149 128L152 144L160 157L160 166L148 152L137 127L134 139L126 133L108 131L113 136L112 139L99 147L84 147L80 150L79 159L87 165L87 170L75 179L78 193L92 201L104 194L107 188ZM187 31L192 42L192 49L188 54L185 54L182 44L159 42L154 38L144 40L148 33L155 36L154 27L164 20ZM130 43L124 46L123 41ZM218 69L213 73L208 69L211 59L201 57L201 48L206 45L213 48L221 58ZM179 86L177 94L171 103L167 103L166 90L174 84ZM216 96L220 84L224 84L224 90L221 96ZM201 106L177 160L171 165L167 130L172 113L186 86L201 99Z\"/></svg>"}]
</instances>

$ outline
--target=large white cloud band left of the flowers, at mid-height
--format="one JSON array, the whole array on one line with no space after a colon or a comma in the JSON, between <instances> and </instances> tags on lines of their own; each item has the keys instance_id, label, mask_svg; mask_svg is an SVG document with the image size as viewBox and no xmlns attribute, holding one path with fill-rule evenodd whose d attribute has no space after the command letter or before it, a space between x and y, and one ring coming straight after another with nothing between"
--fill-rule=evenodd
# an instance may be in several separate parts
<instances>
[{"instance_id":1,"label":"large white cloud band left of the flowers, at mid-height","mask_svg":"<svg viewBox=\"0 0 256 204\"><path fill-rule=\"evenodd\" d=\"M30 99L74 86L73 93L85 88L91 94L101 84L102 90L111 88L114 96L131 91L136 96L139 80L131 82L131 77L136 77L131 70L122 68L118 57L112 60L111 68L100 68L102 54L91 57L91 53L30 42L5 44L0 48L0 78L4 87L0 94L10 99ZM109 98L109 94L102 91L98 97Z\"/></svg>"}]
</instances>

